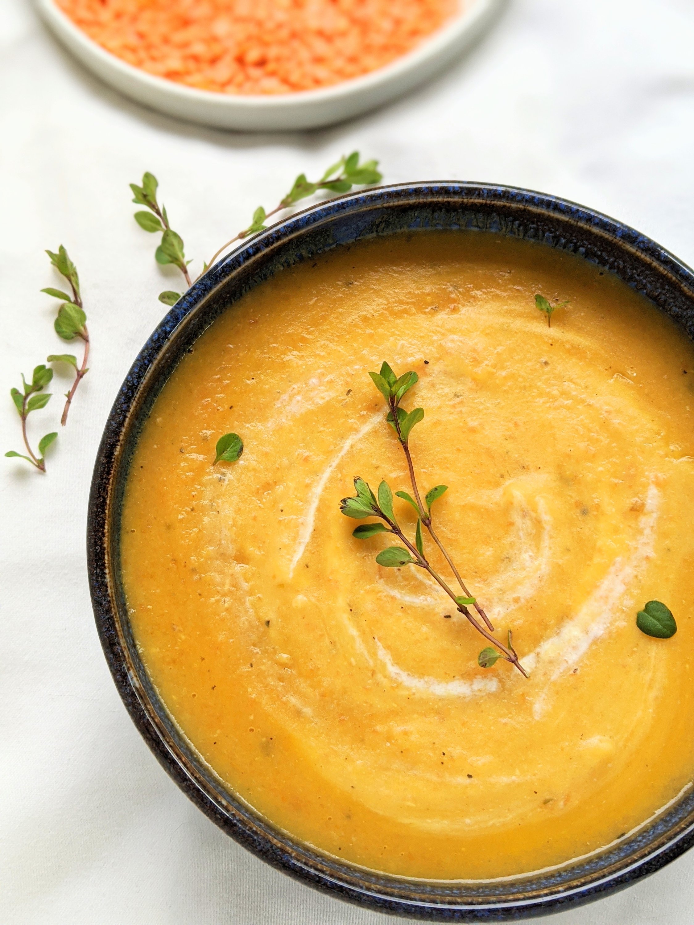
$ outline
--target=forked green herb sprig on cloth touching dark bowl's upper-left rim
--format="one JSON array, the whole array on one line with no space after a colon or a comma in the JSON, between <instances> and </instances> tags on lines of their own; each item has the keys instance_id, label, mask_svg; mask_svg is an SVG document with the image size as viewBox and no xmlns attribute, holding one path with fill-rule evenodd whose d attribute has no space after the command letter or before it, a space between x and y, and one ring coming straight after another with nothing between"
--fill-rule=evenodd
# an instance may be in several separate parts
<instances>
[{"instance_id":1,"label":"forked green herb sprig on cloth touching dark bowl's upper-left rim","mask_svg":"<svg viewBox=\"0 0 694 925\"><path fill-rule=\"evenodd\" d=\"M294 203L298 203L307 196L312 196L320 190L349 192L353 186L370 186L373 183L380 182L381 179L382 175L378 171L378 161L372 160L360 163L358 151L353 151L349 157L341 157L336 164L329 166L323 176L315 182L306 179L305 174L299 174L294 180L291 190L280 200L279 204L274 209L270 212L266 212L262 205L258 206L254 211L253 221L248 228L243 228L243 230L239 231L233 238L229 239L225 244L222 244L217 253L203 265L203 271L200 276L202 276L207 267L214 264L217 257L226 251L235 241L243 240L250 235L264 231L267 227L265 223L268 218L277 215L278 212L291 208ZM151 233L161 232L161 243L155 252L156 262L162 265L173 264L178 266L190 289L192 280L188 272L188 265L191 261L185 258L183 240L180 235L168 224L166 208L163 205L160 206L157 202L157 187L158 182L151 173L145 173L143 175L141 186L138 186L136 183L130 183L130 189L134 193L133 203L145 205L149 209L149 212L136 212L135 221L140 228L143 228L145 231ZM173 305L179 301L180 296L180 292L166 290L159 294L159 302L164 302L165 305Z\"/></svg>"}]
</instances>

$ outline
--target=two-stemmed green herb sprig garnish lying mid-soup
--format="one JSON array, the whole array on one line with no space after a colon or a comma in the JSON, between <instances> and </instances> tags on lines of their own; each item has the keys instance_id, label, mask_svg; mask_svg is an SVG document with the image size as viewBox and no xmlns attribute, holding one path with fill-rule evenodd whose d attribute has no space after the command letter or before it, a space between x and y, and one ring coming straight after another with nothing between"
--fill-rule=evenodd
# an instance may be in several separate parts
<instances>
[{"instance_id":1,"label":"two-stemmed green herb sprig garnish lying mid-soup","mask_svg":"<svg viewBox=\"0 0 694 925\"><path fill-rule=\"evenodd\" d=\"M504 659L511 662L521 674L528 677L527 671L523 668L518 659L518 655L512 644L511 631L508 633L508 645L504 646L495 636L492 635L494 627L477 599L472 597L465 582L461 577L458 569L455 567L447 549L444 548L433 527L433 518L431 506L447 491L448 486L437 485L431 488L422 501L419 487L415 477L415 466L410 453L409 438L410 433L415 425L424 418L424 409L415 408L414 411L406 412L401 408L400 403L410 388L418 381L419 377L415 372L404 373L403 376L396 376L390 368L390 365L384 363L379 373L369 373L374 384L383 395L388 405L388 416L386 420L395 432L401 447L403 448L407 468L410 474L410 483L415 495L413 498L406 491L396 491L397 497L407 501L412 505L417 515L415 527L415 541L411 542L404 535L403 529L398 524L395 513L393 512L393 496L390 486L387 482L382 481L378 486L378 492L374 494L371 487L366 481L357 476L354 479L354 488L356 495L352 498L343 498L340 502L340 510L347 517L353 517L356 520L363 520L366 517L378 517L384 523L362 524L353 531L353 536L357 539L367 539L370 536L376 536L378 533L390 533L397 536L403 543L403 547L390 546L378 553L376 561L378 565L386 568L403 568L405 565L417 565L419 568L428 572L436 583L452 599L458 611L460 611L469 623L475 627L478 633L483 635L494 648L488 647L482 649L479 653L477 663L481 668L490 668L497 660ZM463 595L456 595L446 581L437 573L428 561L424 551L424 541L422 538L422 526L431 536L436 546L440 549L443 558L448 563L456 581L463 591ZM477 620L469 608L474 607L477 615L481 618Z\"/></svg>"}]
</instances>

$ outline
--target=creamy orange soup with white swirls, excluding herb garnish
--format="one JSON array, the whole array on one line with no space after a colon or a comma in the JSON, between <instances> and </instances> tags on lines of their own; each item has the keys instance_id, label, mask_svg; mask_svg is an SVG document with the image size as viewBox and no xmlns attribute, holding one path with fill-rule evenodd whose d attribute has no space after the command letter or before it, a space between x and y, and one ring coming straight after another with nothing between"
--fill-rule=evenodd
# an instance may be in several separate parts
<instances>
[{"instance_id":1,"label":"creamy orange soup with white swirls, excluding herb garnish","mask_svg":"<svg viewBox=\"0 0 694 925\"><path fill-rule=\"evenodd\" d=\"M570 303L551 327L536 292ZM383 360L419 376L417 478L449 486L434 524L529 680L481 669L427 573L341 515L354 475L412 491ZM231 791L336 857L476 879L610 844L692 780L693 407L685 336L545 245L418 232L283 270L185 356L131 462L146 670ZM213 464L229 431L242 458ZM652 598L671 639L637 628Z\"/></svg>"}]
</instances>

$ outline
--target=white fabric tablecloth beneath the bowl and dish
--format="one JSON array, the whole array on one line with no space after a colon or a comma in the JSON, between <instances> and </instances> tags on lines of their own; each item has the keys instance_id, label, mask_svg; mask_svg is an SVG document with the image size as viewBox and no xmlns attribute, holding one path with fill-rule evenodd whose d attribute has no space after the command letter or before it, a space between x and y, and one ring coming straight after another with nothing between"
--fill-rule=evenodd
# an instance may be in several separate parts
<instances>
[{"instance_id":1,"label":"white fabric tablecloth beneath the bowl and dish","mask_svg":"<svg viewBox=\"0 0 694 925\"><path fill-rule=\"evenodd\" d=\"M7 390L46 354L56 285L77 262L91 371L49 473L0 460L0 920L8 925L371 925L388 919L270 870L182 796L122 707L93 627L84 554L94 454L118 386L178 285L135 225L129 181L155 172L189 255L208 257L300 171L343 152L385 178L550 191L618 216L694 263L694 4L516 0L477 49L395 105L332 129L238 135L131 104L75 64L25 0L0 0L3 451ZM36 437L54 429L52 405ZM42 425L39 422L47 422ZM691 925L694 853L556 925Z\"/></svg>"}]
</instances>

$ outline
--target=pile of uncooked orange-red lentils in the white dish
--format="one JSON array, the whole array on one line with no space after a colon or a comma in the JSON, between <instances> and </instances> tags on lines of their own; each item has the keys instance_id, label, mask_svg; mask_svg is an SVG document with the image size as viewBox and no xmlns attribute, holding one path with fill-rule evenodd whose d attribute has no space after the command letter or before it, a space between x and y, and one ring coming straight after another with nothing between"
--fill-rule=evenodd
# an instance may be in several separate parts
<instances>
[{"instance_id":1,"label":"pile of uncooked orange-red lentils in the white dish","mask_svg":"<svg viewBox=\"0 0 694 925\"><path fill-rule=\"evenodd\" d=\"M314 90L382 68L460 0L57 0L150 74L217 93Z\"/></svg>"}]
</instances>

